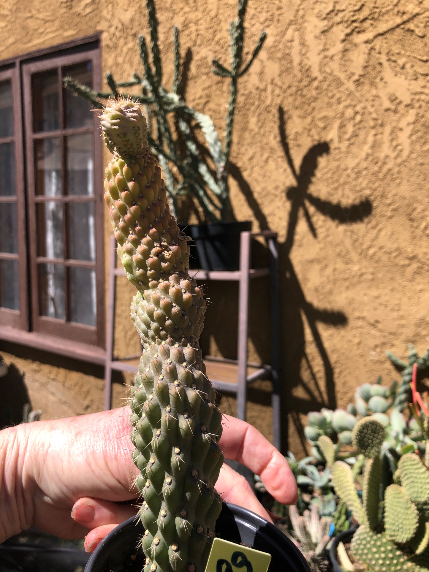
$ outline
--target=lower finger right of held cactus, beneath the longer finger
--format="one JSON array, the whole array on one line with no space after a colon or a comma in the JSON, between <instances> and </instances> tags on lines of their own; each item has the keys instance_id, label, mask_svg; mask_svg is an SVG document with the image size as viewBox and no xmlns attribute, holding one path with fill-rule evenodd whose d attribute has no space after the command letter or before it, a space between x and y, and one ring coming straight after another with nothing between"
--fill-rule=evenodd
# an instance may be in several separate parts
<instances>
[{"instance_id":1,"label":"lower finger right of held cactus, beneath the longer finger","mask_svg":"<svg viewBox=\"0 0 429 572\"><path fill-rule=\"evenodd\" d=\"M261 517L267 519L267 521L271 521L269 514L256 498L252 487L244 476L239 475L238 472L234 471L226 463L224 463L221 468L215 488L221 495L223 501L232 503L233 505L243 506L245 509L259 514Z\"/></svg>"}]
</instances>

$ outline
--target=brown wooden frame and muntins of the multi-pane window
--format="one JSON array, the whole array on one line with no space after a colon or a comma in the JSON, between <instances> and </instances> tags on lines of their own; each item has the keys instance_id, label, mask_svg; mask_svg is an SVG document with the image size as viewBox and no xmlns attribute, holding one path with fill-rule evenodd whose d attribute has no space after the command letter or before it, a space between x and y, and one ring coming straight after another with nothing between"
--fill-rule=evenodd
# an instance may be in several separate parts
<instances>
[{"instance_id":1,"label":"brown wooden frame and muntins of the multi-pane window","mask_svg":"<svg viewBox=\"0 0 429 572\"><path fill-rule=\"evenodd\" d=\"M15 121L15 168L17 169L17 210L19 232L19 254L1 255L3 258L18 258L20 261L21 311L10 311L0 308L1 324L19 328L31 332L31 335L40 337L55 336L68 340L74 340L85 344L104 347L105 344L105 274L104 274L104 214L103 214L103 190L102 190L102 142L98 129L97 116L93 114L93 125L89 128L67 128L65 126L64 109L62 106L63 89L61 85L62 68L70 65L92 62L93 88L101 89L101 57L100 38L93 36L82 38L81 41L73 41L61 46L55 46L51 50L39 50L37 53L26 54L15 61L0 62L0 81L3 77L13 78L14 89L14 121ZM4 71L3 67L9 66ZM32 74L57 69L59 88L59 129L53 132L33 132L33 105L31 101L31 77ZM8 75L9 74L9 75ZM21 77L21 81L20 78ZM21 97L23 117L21 117ZM65 138L77 134L92 133L94 149L94 194L68 195L66 192L66 164L65 164ZM35 157L34 141L38 138L58 137L61 141L61 164L62 164L62 194L58 196L38 195L35 188ZM25 153L23 150L25 149ZM24 185L25 180L25 185ZM9 197L7 197L8 201ZM6 202L4 197L0 201ZM67 259L69 252L66 249L67 233L63 233L65 252L63 259L48 259L38 256L37 252L37 228L36 209L37 204L57 201L63 205L63 224L66 224L65 209L67 204L78 202L92 203L94 205L94 238L95 238L95 261ZM1 204L1 202L0 202ZM63 227L65 229L65 227ZM26 231L24 231L26 229ZM96 273L96 325L90 326L70 321L70 283L65 288L65 321L49 316L40 315L38 293L38 264L55 263L63 265L65 276L69 275L70 268L90 268ZM69 280L66 277L65 280ZM67 298L67 292L69 299ZM0 336L2 337L2 336ZM26 337L26 336L23 336ZM4 339L4 338L3 338ZM54 343L54 340L53 340ZM33 344L34 345L34 344Z\"/></svg>"}]
</instances>

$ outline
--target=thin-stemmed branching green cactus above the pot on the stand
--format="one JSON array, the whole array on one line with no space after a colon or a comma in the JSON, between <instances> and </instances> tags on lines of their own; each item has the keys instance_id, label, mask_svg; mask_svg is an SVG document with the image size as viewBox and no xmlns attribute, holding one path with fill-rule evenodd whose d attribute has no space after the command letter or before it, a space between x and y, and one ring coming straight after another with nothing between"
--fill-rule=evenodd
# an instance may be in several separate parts
<instances>
[{"instance_id":1,"label":"thin-stemmed branching green cactus above the pot on the stand","mask_svg":"<svg viewBox=\"0 0 429 572\"><path fill-rule=\"evenodd\" d=\"M148 142L159 164L164 171L165 189L171 198L172 213L177 213L179 197L189 193L200 206L202 216L210 221L228 221L233 218L229 199L228 168L229 153L232 144L232 129L237 101L237 83L250 69L253 61L259 54L267 37L263 31L248 62L243 65L244 43L244 17L247 0L238 0L237 19L229 27L231 69L227 69L216 59L213 59L212 72L216 76L228 78L230 82L229 105L225 126L225 144L216 132L211 118L190 108L181 98L180 85L180 46L178 29L174 26L174 74L172 91L162 85L162 65L160 48L158 46L158 21L154 0L146 0L148 9L148 23L150 29L152 62L149 61L148 47L144 36L140 36L140 58L144 69L144 77L134 73L132 80L116 83L111 73L107 74L106 81L110 92L94 92L87 86L65 78L65 86L72 89L77 95L90 101L96 108L104 105L101 100L117 97L122 88L140 86L140 96L130 95L135 102L146 106L146 113L150 119L148 124ZM123 94L127 97L127 94ZM152 121L153 120L153 121ZM152 122L154 128L152 129ZM177 137L172 136L170 125L174 124ZM205 152L200 152L196 141L194 129L197 125L205 138ZM185 146L185 152L182 150ZM209 161L205 157L210 157ZM215 166L212 172L212 166Z\"/></svg>"}]
</instances>

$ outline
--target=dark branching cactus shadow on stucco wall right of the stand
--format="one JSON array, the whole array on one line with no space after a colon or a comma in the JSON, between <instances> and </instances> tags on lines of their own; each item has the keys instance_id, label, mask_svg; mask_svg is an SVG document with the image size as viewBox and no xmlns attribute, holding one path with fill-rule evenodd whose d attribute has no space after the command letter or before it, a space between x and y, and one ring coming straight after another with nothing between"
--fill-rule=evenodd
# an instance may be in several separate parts
<instances>
[{"instance_id":1,"label":"dark branching cactus shadow on stucco wall right of the stand","mask_svg":"<svg viewBox=\"0 0 429 572\"><path fill-rule=\"evenodd\" d=\"M287 164L296 182L295 186L285 189L285 198L287 198L291 205L286 238L284 243L279 243L280 291L283 293L280 299L280 323L283 324L283 328L280 329L280 347L282 352L281 368L283 374L281 374L280 379L283 380L282 403L284 404L284 411L288 411L288 413L292 415L293 423L295 423L301 442L305 447L303 426L301 425L298 413L320 410L321 407L329 407L332 409L336 407L335 380L333 378L332 365L317 324L321 322L334 327L343 327L347 324L347 316L343 312L336 311L335 309L317 308L305 299L304 289L301 287L289 257L295 239L298 217L300 214L304 216L309 231L314 239L317 240L317 230L309 215L307 202L321 214L340 224L352 224L363 221L371 215L372 204L370 200L365 199L351 206L342 206L340 203L321 200L311 194L309 192L309 186L316 173L317 162L319 157L329 153L329 144L323 141L308 149L301 161L299 170L297 170L293 164L289 150L285 130L284 110L281 106L279 106L279 134ZM259 208L259 204L255 200L248 182L245 181L236 165L231 165L230 172L232 177L238 182L241 192L252 209L256 220L259 222L261 230L268 230L267 219ZM316 375L315 368L312 367L305 349L304 320L307 322L308 328L311 331L313 342L323 363L323 375L321 376ZM250 335L256 349L259 350L258 340L253 339L252 327ZM301 376L301 368L303 366L310 372L313 382L312 387L309 387L309 384ZM301 386L305 394L307 394L305 399L297 398L292 395L293 388L298 386ZM287 415L282 416L282 420L284 426L281 428L281 438L282 442L287 444Z\"/></svg>"}]
</instances>

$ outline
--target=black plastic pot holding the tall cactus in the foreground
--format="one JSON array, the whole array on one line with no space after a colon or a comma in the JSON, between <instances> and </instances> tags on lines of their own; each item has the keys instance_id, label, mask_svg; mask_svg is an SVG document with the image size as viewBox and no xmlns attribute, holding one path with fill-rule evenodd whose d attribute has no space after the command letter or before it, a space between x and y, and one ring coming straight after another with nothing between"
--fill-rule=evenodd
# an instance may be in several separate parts
<instances>
[{"instance_id":1,"label":"black plastic pot holding the tall cactus in the foreground","mask_svg":"<svg viewBox=\"0 0 429 572\"><path fill-rule=\"evenodd\" d=\"M136 524L133 518L117 526L94 550L85 572L141 572L145 556L136 546L143 533L143 525ZM243 507L223 504L216 522L216 536L271 554L268 572L310 572L293 542L274 525Z\"/></svg>"}]
</instances>

